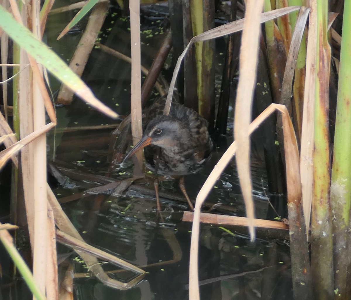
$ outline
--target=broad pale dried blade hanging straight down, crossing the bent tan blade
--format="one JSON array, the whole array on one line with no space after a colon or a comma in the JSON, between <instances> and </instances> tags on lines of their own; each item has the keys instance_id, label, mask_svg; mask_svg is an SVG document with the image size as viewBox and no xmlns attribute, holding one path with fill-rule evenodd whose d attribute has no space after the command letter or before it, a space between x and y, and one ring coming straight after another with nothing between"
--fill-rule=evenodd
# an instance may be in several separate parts
<instances>
[{"instance_id":1,"label":"broad pale dried blade hanging straight down, crossing the bent tan blade","mask_svg":"<svg viewBox=\"0 0 351 300\"><path fill-rule=\"evenodd\" d=\"M234 115L234 139L238 143L236 161L246 215L249 219L251 240L255 238L253 227L254 207L250 172L250 135L252 97L256 82L258 43L260 35L260 13L263 0L248 1L239 56L239 83Z\"/></svg>"}]
</instances>

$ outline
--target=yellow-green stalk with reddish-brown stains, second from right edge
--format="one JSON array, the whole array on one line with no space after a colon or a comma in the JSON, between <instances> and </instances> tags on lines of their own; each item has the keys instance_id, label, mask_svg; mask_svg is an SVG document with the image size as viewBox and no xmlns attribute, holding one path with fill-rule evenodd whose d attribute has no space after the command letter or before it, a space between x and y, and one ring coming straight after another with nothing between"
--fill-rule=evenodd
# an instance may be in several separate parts
<instances>
[{"instance_id":1,"label":"yellow-green stalk with reddish-brown stains, second from right edge","mask_svg":"<svg viewBox=\"0 0 351 300\"><path fill-rule=\"evenodd\" d=\"M313 201L311 268L316 299L334 297L332 219L330 208L329 75L331 49L327 41L328 3L311 0L310 22L317 24L314 98ZM310 88L313 88L310 86Z\"/></svg>"}]
</instances>

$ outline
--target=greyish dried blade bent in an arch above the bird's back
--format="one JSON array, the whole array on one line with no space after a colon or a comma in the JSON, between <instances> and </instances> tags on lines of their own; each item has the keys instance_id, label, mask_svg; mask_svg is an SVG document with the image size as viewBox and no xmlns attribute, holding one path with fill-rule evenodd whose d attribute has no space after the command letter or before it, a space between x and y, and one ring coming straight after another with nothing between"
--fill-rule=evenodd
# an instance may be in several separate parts
<instances>
[{"instance_id":1,"label":"greyish dried blade bent in an arch above the bird's back","mask_svg":"<svg viewBox=\"0 0 351 300\"><path fill-rule=\"evenodd\" d=\"M299 8L300 8L300 6L290 6L290 7L285 7L285 8L279 8L279 9L276 9L276 10L270 11L270 12L261 13L260 19L259 19L260 23L264 23L266 21L275 19L278 16L282 16L284 14L288 14L288 13L291 13L293 11L297 11ZM224 36L227 34L241 31L241 30L243 30L243 26L244 26L244 19L240 19L240 20L233 21L233 22L230 22L228 24L224 24L224 25L218 26L216 28L210 29L204 33L201 33L197 36L194 36L191 39L189 44L185 47L183 53L179 56L179 58L177 60L176 67L174 68L170 88L168 90L164 114L168 115L168 113L170 111L174 86L176 85L176 80L177 80L177 76L178 76L179 69L181 66L181 62L183 61L184 56L188 52L188 49L190 48L190 46L196 41L207 41L209 39L215 39L215 38L219 38L220 36Z\"/></svg>"}]
</instances>

